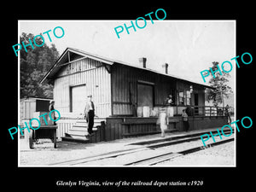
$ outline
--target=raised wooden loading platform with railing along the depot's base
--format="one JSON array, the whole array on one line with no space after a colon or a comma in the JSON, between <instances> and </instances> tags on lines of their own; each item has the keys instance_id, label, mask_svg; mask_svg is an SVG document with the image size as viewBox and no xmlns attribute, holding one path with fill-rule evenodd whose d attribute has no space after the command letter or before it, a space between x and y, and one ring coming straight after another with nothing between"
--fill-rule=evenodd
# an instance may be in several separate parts
<instances>
[{"instance_id":1,"label":"raised wooden loading platform with railing along the depot's base","mask_svg":"<svg viewBox=\"0 0 256 192\"><path fill-rule=\"evenodd\" d=\"M183 119L181 112L187 107L174 107L174 116L169 117L168 131L183 131ZM152 113L150 113L152 114ZM88 143L98 143L102 141L113 141L126 137L138 137L143 135L160 133L159 125L156 125L158 114L149 117L129 117L112 116L106 119L96 118L96 122L104 122L97 125L95 135L90 137ZM221 127L227 124L227 116L224 115L223 108L212 106L192 106L189 114L189 131L204 130L213 127ZM65 133L70 131L80 117L65 118L61 116L58 120L57 137L65 137ZM167 131L167 132L168 132Z\"/></svg>"}]
</instances>

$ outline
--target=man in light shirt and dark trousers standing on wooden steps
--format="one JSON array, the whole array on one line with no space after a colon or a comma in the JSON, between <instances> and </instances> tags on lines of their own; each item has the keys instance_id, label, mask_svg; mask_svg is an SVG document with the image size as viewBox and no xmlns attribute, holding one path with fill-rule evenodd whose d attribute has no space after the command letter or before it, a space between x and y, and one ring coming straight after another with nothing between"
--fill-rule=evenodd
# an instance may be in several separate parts
<instances>
[{"instance_id":1,"label":"man in light shirt and dark trousers standing on wooden steps","mask_svg":"<svg viewBox=\"0 0 256 192\"><path fill-rule=\"evenodd\" d=\"M88 102L86 102L85 104L85 108L84 108L84 118L86 118L86 121L88 123L88 133L89 135L92 134L92 127L94 125L94 116L95 116L95 113L94 113L94 104L93 102L91 101L92 99L92 96L87 96L88 97Z\"/></svg>"}]
</instances>

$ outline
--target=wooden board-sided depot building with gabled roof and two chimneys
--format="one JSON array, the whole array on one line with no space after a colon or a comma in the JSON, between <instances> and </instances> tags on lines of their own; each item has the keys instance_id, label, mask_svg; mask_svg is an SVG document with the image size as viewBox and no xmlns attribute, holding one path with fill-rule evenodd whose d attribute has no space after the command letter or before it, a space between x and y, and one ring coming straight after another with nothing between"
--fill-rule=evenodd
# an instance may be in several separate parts
<instances>
[{"instance_id":1,"label":"wooden board-sided depot building with gabled roof and two chimneys","mask_svg":"<svg viewBox=\"0 0 256 192\"><path fill-rule=\"evenodd\" d=\"M226 124L224 113L205 106L205 90L212 87L168 74L168 64L163 65L166 73L160 73L147 68L146 58L140 58L139 63L133 66L79 49L65 49L41 80L54 84L55 109L61 113L57 137L67 136L73 125L81 122L89 94L95 103L96 122L104 122L91 142L160 132L156 120L170 94L174 101L170 131L183 131L181 113L187 107L193 111L190 130Z\"/></svg>"}]
</instances>

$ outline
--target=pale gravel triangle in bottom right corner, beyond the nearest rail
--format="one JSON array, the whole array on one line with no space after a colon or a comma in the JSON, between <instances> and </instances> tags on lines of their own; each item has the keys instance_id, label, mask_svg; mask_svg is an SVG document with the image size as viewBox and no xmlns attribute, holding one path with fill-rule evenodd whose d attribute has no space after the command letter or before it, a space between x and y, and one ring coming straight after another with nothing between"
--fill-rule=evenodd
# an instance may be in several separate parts
<instances>
[{"instance_id":1,"label":"pale gravel triangle in bottom right corner, beyond the nearest rail","mask_svg":"<svg viewBox=\"0 0 256 192\"><path fill-rule=\"evenodd\" d=\"M193 154L179 156L157 166L235 166L235 143L224 143Z\"/></svg>"}]
</instances>

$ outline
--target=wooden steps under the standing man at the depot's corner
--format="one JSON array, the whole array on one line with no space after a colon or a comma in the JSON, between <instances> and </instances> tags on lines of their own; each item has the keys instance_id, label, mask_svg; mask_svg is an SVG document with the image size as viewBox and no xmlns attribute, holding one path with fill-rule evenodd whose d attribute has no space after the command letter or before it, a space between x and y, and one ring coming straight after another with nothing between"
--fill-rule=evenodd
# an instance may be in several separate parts
<instances>
[{"instance_id":1,"label":"wooden steps under the standing man at the depot's corner","mask_svg":"<svg viewBox=\"0 0 256 192\"><path fill-rule=\"evenodd\" d=\"M101 142L102 129L105 129L105 121L102 119L95 119L92 128L93 135L89 135L88 123L85 119L77 120L76 124L65 133L65 137L61 137L62 141L75 143L96 143ZM99 131L100 130L100 131Z\"/></svg>"}]
</instances>

